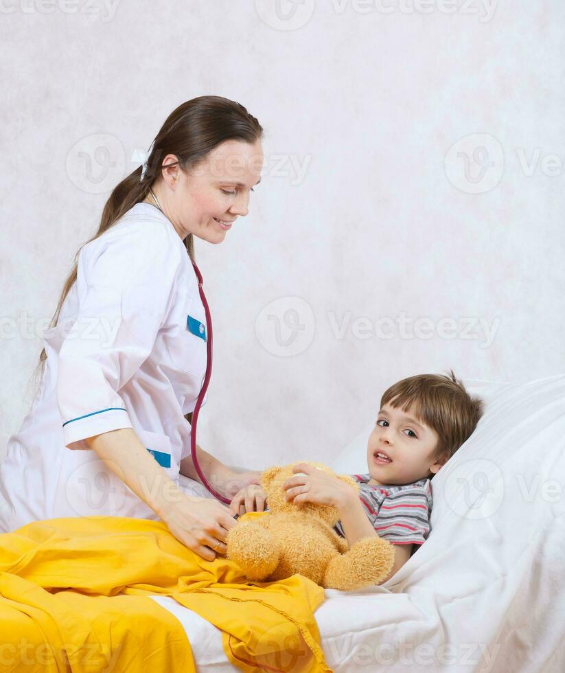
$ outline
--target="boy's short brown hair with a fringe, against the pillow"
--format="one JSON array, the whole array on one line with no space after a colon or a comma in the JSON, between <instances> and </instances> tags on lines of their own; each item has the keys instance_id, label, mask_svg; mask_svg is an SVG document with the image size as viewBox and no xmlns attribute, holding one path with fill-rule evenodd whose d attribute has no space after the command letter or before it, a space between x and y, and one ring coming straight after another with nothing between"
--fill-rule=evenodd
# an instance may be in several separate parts
<instances>
[{"instance_id":1,"label":"boy's short brown hair with a fringe, against the pillow","mask_svg":"<svg viewBox=\"0 0 565 673\"><path fill-rule=\"evenodd\" d=\"M449 376L418 374L403 378L384 391L381 409L384 404L412 413L437 432L435 461L452 457L472 435L484 410L483 400L470 396L463 383L455 378L453 369Z\"/></svg>"}]
</instances>

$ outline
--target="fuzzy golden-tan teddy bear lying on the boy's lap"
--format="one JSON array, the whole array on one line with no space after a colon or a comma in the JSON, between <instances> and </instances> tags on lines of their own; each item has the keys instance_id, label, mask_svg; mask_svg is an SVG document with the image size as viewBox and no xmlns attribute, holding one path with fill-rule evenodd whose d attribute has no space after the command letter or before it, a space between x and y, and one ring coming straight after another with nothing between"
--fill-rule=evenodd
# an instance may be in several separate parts
<instances>
[{"instance_id":1,"label":"fuzzy golden-tan teddy bear lying on the boy's lap","mask_svg":"<svg viewBox=\"0 0 565 673\"><path fill-rule=\"evenodd\" d=\"M349 475L336 475L329 467L306 462L345 481L356 492ZM339 521L337 507L286 500L282 484L295 477L292 468L273 466L261 475L268 512L248 512L227 536L227 558L253 581L272 582L300 573L325 589L351 591L378 584L394 564L394 547L380 537L347 540L333 529Z\"/></svg>"}]
</instances>

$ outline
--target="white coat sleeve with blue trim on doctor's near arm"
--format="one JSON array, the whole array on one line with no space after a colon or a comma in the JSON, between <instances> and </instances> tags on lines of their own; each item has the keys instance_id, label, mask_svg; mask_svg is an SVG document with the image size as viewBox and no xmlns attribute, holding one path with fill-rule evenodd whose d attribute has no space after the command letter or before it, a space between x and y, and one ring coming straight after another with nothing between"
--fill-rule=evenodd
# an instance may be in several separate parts
<instances>
[{"instance_id":1,"label":"white coat sleeve with blue trim on doctor's near arm","mask_svg":"<svg viewBox=\"0 0 565 673\"><path fill-rule=\"evenodd\" d=\"M119 391L152 352L181 255L163 223L150 221L82 249L78 315L60 348L56 387L68 448L88 449L87 437L132 427Z\"/></svg>"}]
</instances>

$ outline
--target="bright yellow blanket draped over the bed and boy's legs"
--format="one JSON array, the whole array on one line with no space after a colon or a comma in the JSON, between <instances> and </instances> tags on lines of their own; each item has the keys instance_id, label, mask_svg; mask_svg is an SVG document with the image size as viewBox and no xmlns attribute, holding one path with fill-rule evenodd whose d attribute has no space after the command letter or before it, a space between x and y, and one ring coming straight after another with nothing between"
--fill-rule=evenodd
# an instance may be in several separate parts
<instances>
[{"instance_id":1,"label":"bright yellow blanket draped over the bed and boy's legs","mask_svg":"<svg viewBox=\"0 0 565 673\"><path fill-rule=\"evenodd\" d=\"M0 670L194 672L185 630L148 597L157 594L219 628L242 671L330 671L314 619L320 586L303 575L250 582L233 561L187 549L161 521L106 516L0 534Z\"/></svg>"}]
</instances>

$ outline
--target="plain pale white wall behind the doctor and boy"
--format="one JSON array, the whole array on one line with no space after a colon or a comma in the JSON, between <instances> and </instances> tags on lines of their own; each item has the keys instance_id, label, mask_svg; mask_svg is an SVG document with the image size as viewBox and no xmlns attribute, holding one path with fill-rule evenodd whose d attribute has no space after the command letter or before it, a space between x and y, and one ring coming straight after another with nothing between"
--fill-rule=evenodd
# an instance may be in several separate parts
<instances>
[{"instance_id":1,"label":"plain pale white wall behind the doctor and boy","mask_svg":"<svg viewBox=\"0 0 565 673\"><path fill-rule=\"evenodd\" d=\"M0 457L73 256L196 95L266 132L249 216L197 245L204 448L330 461L405 376L564 371L561 0L5 0L0 22Z\"/></svg>"}]
</instances>

